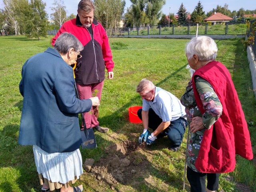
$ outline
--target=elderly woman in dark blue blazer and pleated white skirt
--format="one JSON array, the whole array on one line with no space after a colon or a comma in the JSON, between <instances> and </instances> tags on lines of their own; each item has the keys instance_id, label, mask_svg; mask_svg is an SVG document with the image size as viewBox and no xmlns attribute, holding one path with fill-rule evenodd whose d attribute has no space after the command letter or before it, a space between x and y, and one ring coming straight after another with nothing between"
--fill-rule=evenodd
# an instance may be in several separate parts
<instances>
[{"instance_id":1,"label":"elderly woman in dark blue blazer and pleated white skirt","mask_svg":"<svg viewBox=\"0 0 256 192\"><path fill-rule=\"evenodd\" d=\"M42 191L81 192L71 187L82 174L82 143L78 114L99 105L98 97L76 98L72 64L83 50L80 41L62 33L43 53L22 67L20 93L24 97L19 144L33 145Z\"/></svg>"}]
</instances>

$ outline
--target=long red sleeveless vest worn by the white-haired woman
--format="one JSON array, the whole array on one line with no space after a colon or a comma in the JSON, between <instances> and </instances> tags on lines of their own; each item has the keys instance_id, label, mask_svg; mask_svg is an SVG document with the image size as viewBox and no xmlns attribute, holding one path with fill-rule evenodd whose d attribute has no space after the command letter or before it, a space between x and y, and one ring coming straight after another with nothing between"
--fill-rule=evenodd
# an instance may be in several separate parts
<instances>
[{"instance_id":1,"label":"long red sleeveless vest worn by the white-haired woman","mask_svg":"<svg viewBox=\"0 0 256 192\"><path fill-rule=\"evenodd\" d=\"M222 115L209 130L204 131L195 166L204 173L232 172L236 165L235 154L252 159L252 144L241 103L228 69L212 61L196 70L192 77L196 104L204 114L202 101L195 86L195 76L208 81L216 92Z\"/></svg>"}]
</instances>

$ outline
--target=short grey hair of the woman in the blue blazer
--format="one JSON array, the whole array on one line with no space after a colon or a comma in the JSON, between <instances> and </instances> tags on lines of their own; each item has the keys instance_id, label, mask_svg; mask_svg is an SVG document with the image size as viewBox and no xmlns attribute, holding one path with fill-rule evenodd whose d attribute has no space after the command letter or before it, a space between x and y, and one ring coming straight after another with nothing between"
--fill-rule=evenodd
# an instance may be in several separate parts
<instances>
[{"instance_id":1,"label":"short grey hair of the woman in the blue blazer","mask_svg":"<svg viewBox=\"0 0 256 192\"><path fill-rule=\"evenodd\" d=\"M77 52L84 50L83 44L74 35L68 32L63 32L56 39L54 49L60 54L66 54L71 48L74 48Z\"/></svg>"}]
</instances>

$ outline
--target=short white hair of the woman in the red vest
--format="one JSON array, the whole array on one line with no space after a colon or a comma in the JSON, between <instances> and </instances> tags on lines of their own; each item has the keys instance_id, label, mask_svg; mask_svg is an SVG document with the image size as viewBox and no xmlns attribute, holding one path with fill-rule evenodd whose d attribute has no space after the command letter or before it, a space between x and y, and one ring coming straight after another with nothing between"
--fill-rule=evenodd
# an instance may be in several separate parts
<instances>
[{"instance_id":1,"label":"short white hair of the woman in the red vest","mask_svg":"<svg viewBox=\"0 0 256 192\"><path fill-rule=\"evenodd\" d=\"M189 59L197 55L200 61L213 61L217 56L217 45L214 40L208 36L199 36L192 38L186 44L186 56Z\"/></svg>"}]
</instances>

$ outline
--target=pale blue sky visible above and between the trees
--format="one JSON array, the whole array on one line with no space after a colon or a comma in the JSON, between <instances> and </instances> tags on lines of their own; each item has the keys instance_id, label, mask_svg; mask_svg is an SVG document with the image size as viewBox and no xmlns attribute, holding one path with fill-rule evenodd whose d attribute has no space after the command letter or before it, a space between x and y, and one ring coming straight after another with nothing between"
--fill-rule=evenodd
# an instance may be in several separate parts
<instances>
[{"instance_id":1,"label":"pale blue sky visible above and between the trees","mask_svg":"<svg viewBox=\"0 0 256 192\"><path fill-rule=\"evenodd\" d=\"M53 0L42 0L46 3L46 12L48 15L52 13L50 7L52 7ZM66 6L67 15L77 14L77 5L80 0L63 0L64 5ZM130 0L126 1L126 8L131 6ZM168 15L170 13L177 14L178 9L180 8L181 3L183 2L184 7L187 12L192 13L195 6L197 5L199 0L166 0L166 4L162 8L162 13ZM209 12L213 8L216 8L217 5L224 6L224 4L228 4L228 9L232 12L233 10L238 11L240 8L244 8L244 10L255 10L256 3L255 0L200 0L202 6L204 7L205 13ZM4 8L3 0L0 0L0 8ZM125 12L126 12L125 8Z\"/></svg>"}]
</instances>

